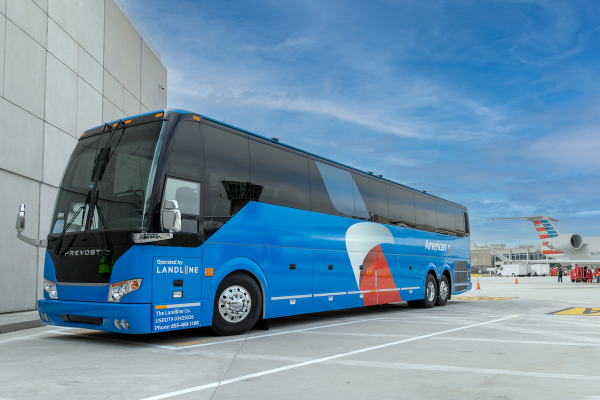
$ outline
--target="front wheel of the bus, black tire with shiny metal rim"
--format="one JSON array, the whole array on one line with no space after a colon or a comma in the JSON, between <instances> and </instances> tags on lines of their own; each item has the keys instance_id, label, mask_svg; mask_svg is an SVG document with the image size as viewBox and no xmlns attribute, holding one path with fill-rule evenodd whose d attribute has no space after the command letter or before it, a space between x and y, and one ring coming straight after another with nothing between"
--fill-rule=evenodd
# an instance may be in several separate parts
<instances>
[{"instance_id":1,"label":"front wheel of the bus, black tire with shiny metal rim","mask_svg":"<svg viewBox=\"0 0 600 400\"><path fill-rule=\"evenodd\" d=\"M233 306L227 308L221 299ZM226 276L217 288L211 328L219 335L240 335L252 329L261 313L262 293L258 284L250 276L235 272Z\"/></svg>"}]
</instances>

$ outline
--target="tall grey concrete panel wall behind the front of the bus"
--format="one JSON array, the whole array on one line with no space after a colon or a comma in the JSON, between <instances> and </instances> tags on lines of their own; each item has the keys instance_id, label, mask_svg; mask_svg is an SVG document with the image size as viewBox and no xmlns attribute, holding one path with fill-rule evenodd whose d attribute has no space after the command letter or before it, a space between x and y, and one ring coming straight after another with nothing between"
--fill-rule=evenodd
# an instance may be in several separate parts
<instances>
[{"instance_id":1,"label":"tall grey concrete panel wall behind the front of the bus","mask_svg":"<svg viewBox=\"0 0 600 400\"><path fill-rule=\"evenodd\" d=\"M114 0L0 0L0 313L42 295L45 238L77 138L167 107L167 71Z\"/></svg>"}]
</instances>

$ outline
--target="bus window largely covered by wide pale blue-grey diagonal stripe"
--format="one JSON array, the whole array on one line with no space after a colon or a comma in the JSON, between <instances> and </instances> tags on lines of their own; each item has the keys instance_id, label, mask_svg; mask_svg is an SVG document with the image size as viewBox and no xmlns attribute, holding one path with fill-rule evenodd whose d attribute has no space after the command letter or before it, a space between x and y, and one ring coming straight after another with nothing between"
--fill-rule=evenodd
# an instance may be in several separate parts
<instances>
[{"instance_id":1,"label":"bus window largely covered by wide pale blue-grey diagonal stripe","mask_svg":"<svg viewBox=\"0 0 600 400\"><path fill-rule=\"evenodd\" d=\"M308 166L311 211L352 217L354 189L350 172L313 160L308 160Z\"/></svg>"}]
</instances>

